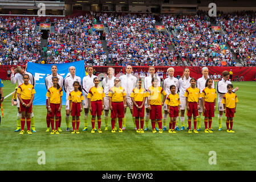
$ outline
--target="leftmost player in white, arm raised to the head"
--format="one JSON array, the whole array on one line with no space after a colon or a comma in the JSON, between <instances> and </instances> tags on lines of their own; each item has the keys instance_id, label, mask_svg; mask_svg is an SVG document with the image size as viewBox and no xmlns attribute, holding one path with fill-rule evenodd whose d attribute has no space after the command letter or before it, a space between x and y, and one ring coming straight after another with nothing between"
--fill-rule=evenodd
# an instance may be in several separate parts
<instances>
[{"instance_id":1,"label":"leftmost player in white, arm raised to the head","mask_svg":"<svg viewBox=\"0 0 256 182\"><path fill-rule=\"evenodd\" d=\"M23 75L25 75L25 74L29 75L29 84L35 86L35 78L32 75L32 73L27 72L22 67L17 67L15 69L14 69L14 67L11 68L11 83L12 84L18 84L17 86L23 84L24 83ZM15 131L21 131L21 111L19 110L19 100L18 99L17 99L17 109L18 109L17 129ZM35 130L35 118L34 118L34 113L33 112L30 114L30 118L31 118L31 130L32 130L32 132L36 132L36 130Z\"/></svg>"}]
</instances>

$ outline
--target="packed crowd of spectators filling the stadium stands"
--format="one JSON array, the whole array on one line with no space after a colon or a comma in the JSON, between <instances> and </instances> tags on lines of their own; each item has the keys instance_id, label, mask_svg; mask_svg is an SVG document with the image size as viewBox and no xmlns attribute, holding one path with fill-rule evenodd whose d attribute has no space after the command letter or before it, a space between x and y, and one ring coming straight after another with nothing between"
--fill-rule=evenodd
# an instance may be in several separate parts
<instances>
[{"instance_id":1,"label":"packed crowd of spectators filling the stadium stands","mask_svg":"<svg viewBox=\"0 0 256 182\"><path fill-rule=\"evenodd\" d=\"M99 19L109 34L96 31ZM218 15L216 23L226 34L214 33L208 15L160 15L160 22L172 32L156 31L151 14L86 14L54 19L55 32L48 34L47 47L40 46L41 33L35 18L0 18L0 64L67 63L175 66L235 66L235 58L255 66L255 15ZM108 55L101 38L106 40ZM228 45L227 45L228 44ZM230 49L231 51L230 51ZM42 53L47 58L42 57ZM233 53L235 57L233 56Z\"/></svg>"}]
</instances>

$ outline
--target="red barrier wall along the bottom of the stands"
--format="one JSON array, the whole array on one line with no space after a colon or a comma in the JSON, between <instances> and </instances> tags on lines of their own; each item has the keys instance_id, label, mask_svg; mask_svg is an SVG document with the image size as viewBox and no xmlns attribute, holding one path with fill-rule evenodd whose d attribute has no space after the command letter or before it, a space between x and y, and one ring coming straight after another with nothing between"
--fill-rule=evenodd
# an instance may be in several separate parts
<instances>
[{"instance_id":1,"label":"red barrier wall along the bottom of the stands","mask_svg":"<svg viewBox=\"0 0 256 182\"><path fill-rule=\"evenodd\" d=\"M7 71L13 67L13 65L0 65L0 78L2 80L7 80ZM26 67L25 65L22 65L22 67ZM97 73L107 73L107 69L109 66L106 67L100 67L100 66L95 66L94 67ZM120 70L123 70L123 73L125 73L125 67L112 67L115 69L115 74L119 73ZM148 71L149 67L136 67L133 66L133 71L140 72L141 69L143 71ZM166 71L169 67L155 67L156 71L162 70L164 71L164 78L166 77ZM183 70L186 67L173 67L174 68L174 76L176 77L177 75L182 76ZM196 79L202 77L202 67L189 67L190 69L190 76L194 77ZM233 78L235 77L241 77L243 76L245 78L245 81L255 81L255 76L256 76L256 67L208 67L209 69L209 75L214 75L214 73L221 74L223 71L230 71L232 69L233 72ZM51 71L49 70L49 73Z\"/></svg>"}]
</instances>

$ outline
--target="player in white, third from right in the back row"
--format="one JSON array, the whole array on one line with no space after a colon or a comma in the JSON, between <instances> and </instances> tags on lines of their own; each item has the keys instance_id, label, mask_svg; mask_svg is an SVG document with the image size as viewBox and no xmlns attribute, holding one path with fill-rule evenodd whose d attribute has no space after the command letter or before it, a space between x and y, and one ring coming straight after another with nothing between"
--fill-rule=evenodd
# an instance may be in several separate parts
<instances>
[{"instance_id":1,"label":"player in white, third from right in the back row","mask_svg":"<svg viewBox=\"0 0 256 182\"><path fill-rule=\"evenodd\" d=\"M185 68L182 77L178 80L180 87L180 121L181 121L181 130L185 130L185 109L186 109L186 97L184 96L186 89L190 87L191 77L189 76L189 68Z\"/></svg>"}]
</instances>

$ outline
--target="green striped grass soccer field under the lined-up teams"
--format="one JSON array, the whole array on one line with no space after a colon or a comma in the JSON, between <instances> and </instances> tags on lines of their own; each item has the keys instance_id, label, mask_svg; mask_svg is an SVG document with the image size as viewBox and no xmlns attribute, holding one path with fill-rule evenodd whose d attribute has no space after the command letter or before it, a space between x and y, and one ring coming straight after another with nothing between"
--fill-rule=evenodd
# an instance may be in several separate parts
<instances>
[{"instance_id":1,"label":"green striped grass soccer field under the lined-up teams","mask_svg":"<svg viewBox=\"0 0 256 182\"><path fill-rule=\"evenodd\" d=\"M10 81L3 84L4 96L13 92L15 86ZM128 111L124 133L104 131L102 119L103 133L92 134L90 118L88 131L82 131L82 113L80 134L71 134L64 131L63 106L63 132L50 135L45 132L46 107L34 106L36 133L19 135L14 132L17 107L11 106L9 96L3 102L5 117L0 125L0 170L256 170L256 82L233 82L233 85L239 86L235 133L226 132L225 117L224 130L218 131L216 111L214 133L201 130L199 134L189 134L185 130L176 134L168 131L153 134L149 123L150 130L140 134L133 129ZM204 129L203 119L201 126ZM46 164L38 164L39 151L45 152ZM216 152L216 164L209 164L210 151Z\"/></svg>"}]
</instances>

